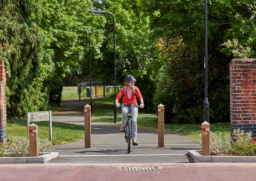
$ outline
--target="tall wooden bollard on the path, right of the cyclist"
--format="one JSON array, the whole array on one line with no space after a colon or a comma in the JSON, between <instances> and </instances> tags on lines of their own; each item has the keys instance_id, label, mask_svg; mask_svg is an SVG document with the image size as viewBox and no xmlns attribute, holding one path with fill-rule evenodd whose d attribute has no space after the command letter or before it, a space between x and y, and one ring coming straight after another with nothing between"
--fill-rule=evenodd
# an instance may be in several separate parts
<instances>
[{"instance_id":1,"label":"tall wooden bollard on the path, right of the cyclist","mask_svg":"<svg viewBox=\"0 0 256 181\"><path fill-rule=\"evenodd\" d=\"M158 147L164 147L164 105L158 105Z\"/></svg>"}]
</instances>

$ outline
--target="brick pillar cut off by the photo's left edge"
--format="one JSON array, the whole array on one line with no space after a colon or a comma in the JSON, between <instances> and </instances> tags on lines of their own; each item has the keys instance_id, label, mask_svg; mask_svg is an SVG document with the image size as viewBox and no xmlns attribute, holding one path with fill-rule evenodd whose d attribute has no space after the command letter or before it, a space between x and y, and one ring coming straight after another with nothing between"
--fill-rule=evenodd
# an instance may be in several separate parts
<instances>
[{"instance_id":1,"label":"brick pillar cut off by the photo's left edge","mask_svg":"<svg viewBox=\"0 0 256 181\"><path fill-rule=\"evenodd\" d=\"M6 141L6 70L3 60L0 60L0 145Z\"/></svg>"}]
</instances>

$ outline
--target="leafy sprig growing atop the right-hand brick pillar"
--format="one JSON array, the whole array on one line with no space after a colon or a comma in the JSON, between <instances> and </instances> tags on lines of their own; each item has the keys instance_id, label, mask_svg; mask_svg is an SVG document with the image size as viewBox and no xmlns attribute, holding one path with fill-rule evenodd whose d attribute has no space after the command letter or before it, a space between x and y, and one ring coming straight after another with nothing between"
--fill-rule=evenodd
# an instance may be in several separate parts
<instances>
[{"instance_id":1,"label":"leafy sprig growing atop the right-hand brick pillar","mask_svg":"<svg viewBox=\"0 0 256 181\"><path fill-rule=\"evenodd\" d=\"M227 40L227 42L224 42L221 44L222 46L226 46L225 49L230 49L230 52L234 54L235 57L239 57L241 59L247 59L251 54L251 48L250 47L243 47L241 44L238 43L238 39L233 39L231 41L230 39Z\"/></svg>"}]
</instances>

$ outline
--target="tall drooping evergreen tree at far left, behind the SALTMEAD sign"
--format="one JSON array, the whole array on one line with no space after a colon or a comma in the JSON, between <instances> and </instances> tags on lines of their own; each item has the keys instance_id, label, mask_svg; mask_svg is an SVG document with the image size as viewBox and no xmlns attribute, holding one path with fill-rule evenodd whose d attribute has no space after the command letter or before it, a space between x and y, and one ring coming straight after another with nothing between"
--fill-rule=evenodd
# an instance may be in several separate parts
<instances>
[{"instance_id":1,"label":"tall drooping evergreen tree at far left, behind the SALTMEAD sign","mask_svg":"<svg viewBox=\"0 0 256 181\"><path fill-rule=\"evenodd\" d=\"M47 105L42 86L47 66L38 57L43 37L35 23L36 13L39 16L36 5L40 4L26 0L0 2L0 41L15 48L6 55L6 64L10 64L6 88L9 116L24 117L28 111L45 109Z\"/></svg>"}]
</instances>

